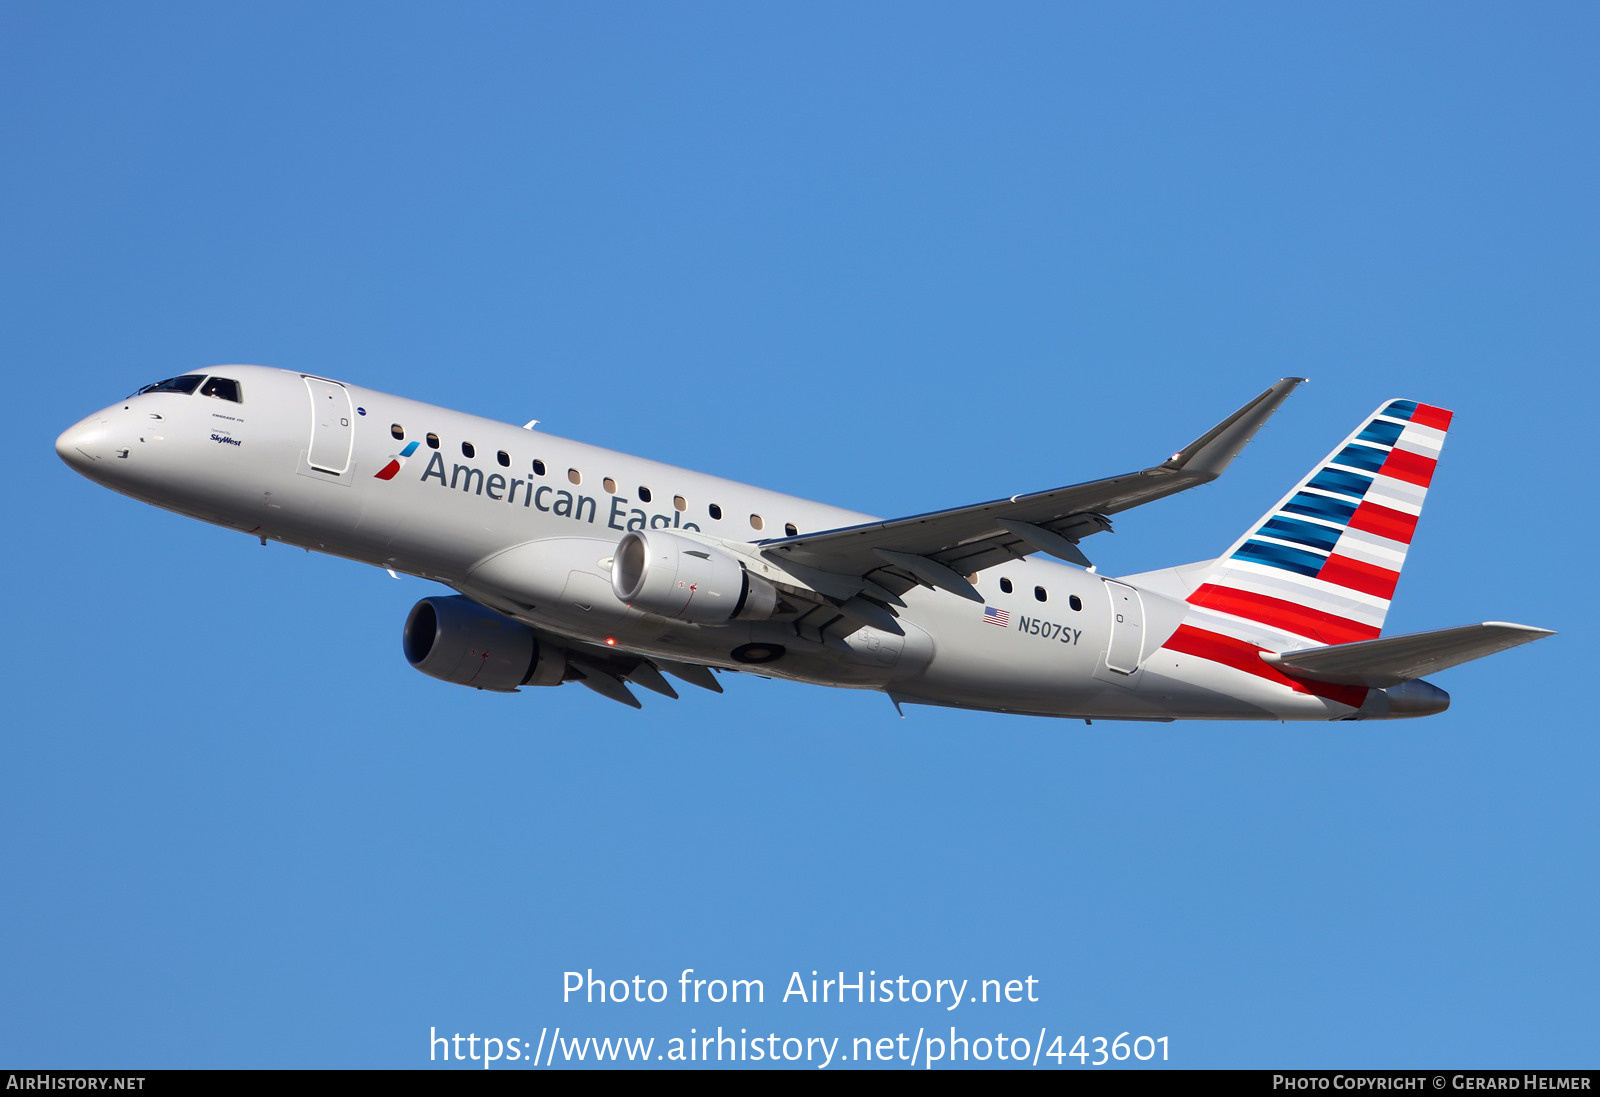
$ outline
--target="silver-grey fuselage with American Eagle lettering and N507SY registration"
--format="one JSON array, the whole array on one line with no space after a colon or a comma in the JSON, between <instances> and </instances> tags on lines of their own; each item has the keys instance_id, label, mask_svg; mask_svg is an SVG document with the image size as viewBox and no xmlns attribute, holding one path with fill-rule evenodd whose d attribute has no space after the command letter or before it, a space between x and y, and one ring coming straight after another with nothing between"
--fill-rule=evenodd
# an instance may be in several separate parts
<instances>
[{"instance_id":1,"label":"silver-grey fuselage with American Eagle lettering and N507SY registration","mask_svg":"<svg viewBox=\"0 0 1600 1097\"><path fill-rule=\"evenodd\" d=\"M978 574L982 604L914 587L899 611L904 636L866 627L840 640L784 620L694 625L643 614L611 587L611 556L629 529L757 542L870 518L358 385L259 366L211 373L237 381L242 400L136 395L67 430L58 451L136 499L434 579L536 630L618 651L1034 715L1357 712L1163 649L1187 609L1181 584L1141 582L1130 601L1117 580L1038 558ZM379 478L392 461L402 467ZM733 654L746 644L781 644L784 656L750 667ZM1131 665L1114 670L1109 651Z\"/></svg>"}]
</instances>

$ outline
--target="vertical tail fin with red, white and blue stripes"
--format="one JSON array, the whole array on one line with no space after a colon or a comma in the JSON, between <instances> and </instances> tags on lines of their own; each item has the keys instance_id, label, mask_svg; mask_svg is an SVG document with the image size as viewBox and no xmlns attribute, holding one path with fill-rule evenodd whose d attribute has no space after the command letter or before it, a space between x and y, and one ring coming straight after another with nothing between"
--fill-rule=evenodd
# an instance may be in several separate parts
<instances>
[{"instance_id":1,"label":"vertical tail fin with red, white and blue stripes","mask_svg":"<svg viewBox=\"0 0 1600 1097\"><path fill-rule=\"evenodd\" d=\"M1186 624L1266 651L1378 636L1448 429L1382 405L1218 558Z\"/></svg>"}]
</instances>

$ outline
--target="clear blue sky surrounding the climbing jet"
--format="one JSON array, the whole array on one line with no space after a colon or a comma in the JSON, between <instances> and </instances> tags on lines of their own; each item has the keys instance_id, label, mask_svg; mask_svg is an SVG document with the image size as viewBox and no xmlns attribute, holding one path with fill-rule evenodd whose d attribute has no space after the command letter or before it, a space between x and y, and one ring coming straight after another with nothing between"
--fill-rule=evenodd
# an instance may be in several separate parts
<instances>
[{"instance_id":1,"label":"clear blue sky surrounding the climbing jet","mask_svg":"<svg viewBox=\"0 0 1600 1097\"><path fill-rule=\"evenodd\" d=\"M955 1025L1189 1067L1594 1065L1597 30L1560 3L5 5L0 1063ZM1562 635L1440 675L1453 708L1414 723L470 692L400 656L437 588L56 459L221 361L880 515L1142 467L1312 379L1222 481L1096 537L1112 574L1216 555L1421 398L1456 421L1387 630ZM563 1004L589 967L768 1001ZM778 1001L813 969L1040 1001Z\"/></svg>"}]
</instances>

